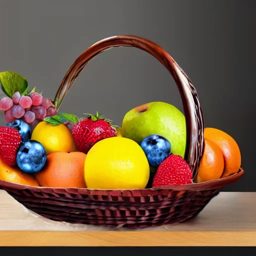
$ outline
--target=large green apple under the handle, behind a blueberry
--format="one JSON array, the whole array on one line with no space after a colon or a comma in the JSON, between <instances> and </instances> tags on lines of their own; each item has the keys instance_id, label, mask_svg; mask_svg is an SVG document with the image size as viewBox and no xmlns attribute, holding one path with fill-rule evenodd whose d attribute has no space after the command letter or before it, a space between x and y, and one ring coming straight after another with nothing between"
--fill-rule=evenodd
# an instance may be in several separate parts
<instances>
[{"instance_id":1,"label":"large green apple under the handle, behind a blueberry","mask_svg":"<svg viewBox=\"0 0 256 256\"><path fill-rule=\"evenodd\" d=\"M175 106L154 101L129 110L122 120L122 136L140 144L151 134L164 136L171 144L171 152L184 157L186 122L183 113Z\"/></svg>"}]
</instances>

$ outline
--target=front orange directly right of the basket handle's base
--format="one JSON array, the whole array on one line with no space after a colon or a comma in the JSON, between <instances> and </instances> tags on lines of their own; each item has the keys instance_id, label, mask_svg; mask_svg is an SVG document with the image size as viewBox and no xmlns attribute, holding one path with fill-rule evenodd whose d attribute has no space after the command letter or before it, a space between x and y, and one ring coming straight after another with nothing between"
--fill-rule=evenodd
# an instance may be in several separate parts
<instances>
[{"instance_id":1,"label":"front orange directly right of the basket handle's base","mask_svg":"<svg viewBox=\"0 0 256 256\"><path fill-rule=\"evenodd\" d=\"M219 146L207 138L197 174L197 182L220 178L224 169L224 157Z\"/></svg>"}]
</instances>

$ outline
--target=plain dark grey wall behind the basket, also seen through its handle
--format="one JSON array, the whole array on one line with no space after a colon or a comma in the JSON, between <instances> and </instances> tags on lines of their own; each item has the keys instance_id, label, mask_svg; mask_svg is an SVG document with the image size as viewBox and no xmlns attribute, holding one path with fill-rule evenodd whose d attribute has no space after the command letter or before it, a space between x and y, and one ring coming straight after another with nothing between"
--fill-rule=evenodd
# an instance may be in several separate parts
<instances>
[{"instance_id":1,"label":"plain dark grey wall behind the basket, also seen through its handle","mask_svg":"<svg viewBox=\"0 0 256 256\"><path fill-rule=\"evenodd\" d=\"M0 70L20 73L30 87L53 98L69 66L92 43L117 34L153 40L193 81L205 126L226 131L240 146L245 175L222 190L256 191L255 3L0 0ZM98 110L121 124L125 112L150 101L165 101L182 110L178 90L164 67L141 50L121 47L90 61L60 110L76 115Z\"/></svg>"}]
</instances>

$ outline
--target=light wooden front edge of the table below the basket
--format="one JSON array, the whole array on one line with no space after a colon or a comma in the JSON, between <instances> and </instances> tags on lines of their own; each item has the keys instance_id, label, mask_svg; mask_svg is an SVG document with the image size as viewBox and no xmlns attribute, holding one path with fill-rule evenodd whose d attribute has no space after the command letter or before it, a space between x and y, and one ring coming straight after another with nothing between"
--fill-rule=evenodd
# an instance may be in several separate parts
<instances>
[{"instance_id":1,"label":"light wooden front edge of the table below the basket","mask_svg":"<svg viewBox=\"0 0 256 256\"><path fill-rule=\"evenodd\" d=\"M256 246L256 231L6 230L0 246Z\"/></svg>"}]
</instances>

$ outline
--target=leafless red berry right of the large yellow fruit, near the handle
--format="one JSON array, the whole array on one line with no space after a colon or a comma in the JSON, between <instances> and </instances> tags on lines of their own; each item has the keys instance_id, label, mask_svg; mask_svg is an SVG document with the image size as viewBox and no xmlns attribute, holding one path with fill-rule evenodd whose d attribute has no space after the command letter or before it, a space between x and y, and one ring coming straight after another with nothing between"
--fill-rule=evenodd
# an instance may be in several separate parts
<instances>
[{"instance_id":1,"label":"leafless red berry right of the large yellow fruit, near the handle","mask_svg":"<svg viewBox=\"0 0 256 256\"><path fill-rule=\"evenodd\" d=\"M180 155L171 154L158 166L152 187L189 183L192 183L190 166Z\"/></svg>"}]
</instances>

